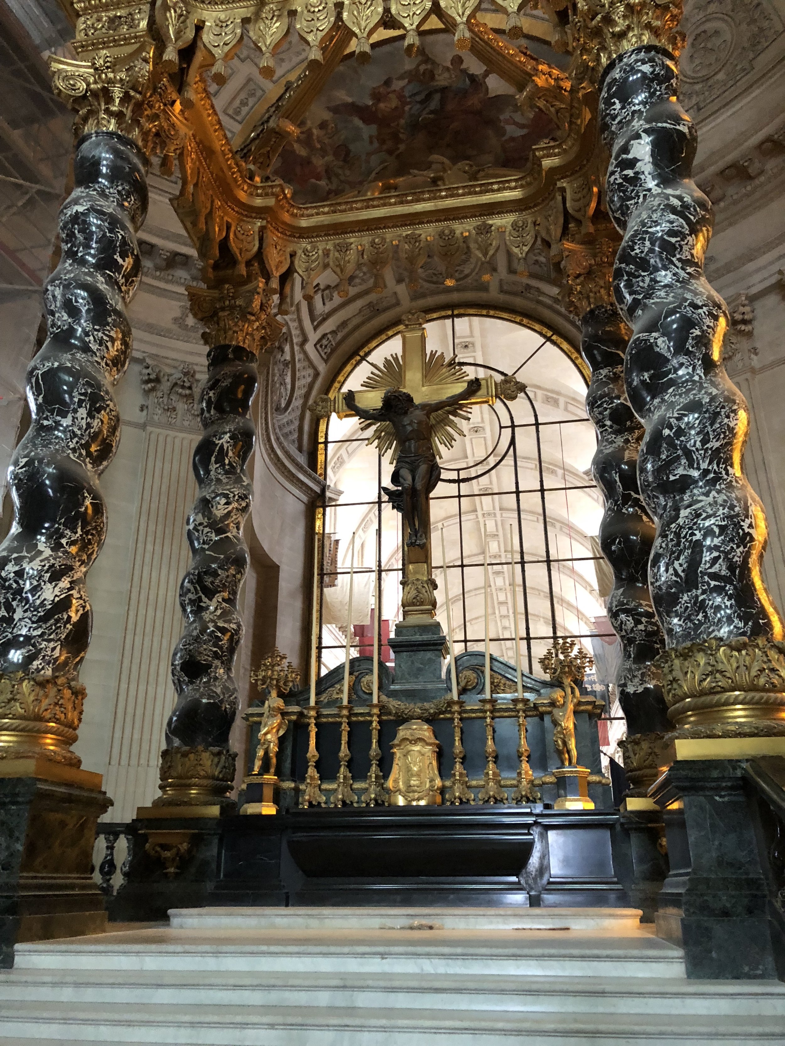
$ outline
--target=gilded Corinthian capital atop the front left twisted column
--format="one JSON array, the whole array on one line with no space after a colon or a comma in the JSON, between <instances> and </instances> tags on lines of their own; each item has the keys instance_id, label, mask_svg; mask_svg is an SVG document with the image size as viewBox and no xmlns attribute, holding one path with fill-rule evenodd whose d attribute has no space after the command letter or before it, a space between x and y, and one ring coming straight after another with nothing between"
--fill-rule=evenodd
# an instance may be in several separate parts
<instances>
[{"instance_id":1,"label":"gilded Corinthian capital atop the front left twisted column","mask_svg":"<svg viewBox=\"0 0 785 1046\"><path fill-rule=\"evenodd\" d=\"M109 51L97 51L89 62L49 59L52 90L74 110L77 138L91 131L116 131L138 140L151 61L149 50L132 62Z\"/></svg>"}]
</instances>

